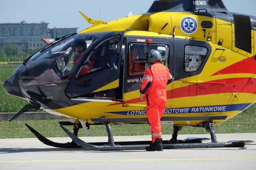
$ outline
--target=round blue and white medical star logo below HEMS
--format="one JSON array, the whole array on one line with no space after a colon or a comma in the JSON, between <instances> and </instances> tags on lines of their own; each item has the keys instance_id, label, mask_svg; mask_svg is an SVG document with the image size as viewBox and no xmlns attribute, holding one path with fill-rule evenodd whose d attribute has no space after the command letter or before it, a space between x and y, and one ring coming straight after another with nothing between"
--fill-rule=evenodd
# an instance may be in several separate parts
<instances>
[{"instance_id":1,"label":"round blue and white medical star logo below HEMS","mask_svg":"<svg viewBox=\"0 0 256 170\"><path fill-rule=\"evenodd\" d=\"M180 21L180 27L184 33L192 34L196 31L198 24L192 17L184 17Z\"/></svg>"}]
</instances>

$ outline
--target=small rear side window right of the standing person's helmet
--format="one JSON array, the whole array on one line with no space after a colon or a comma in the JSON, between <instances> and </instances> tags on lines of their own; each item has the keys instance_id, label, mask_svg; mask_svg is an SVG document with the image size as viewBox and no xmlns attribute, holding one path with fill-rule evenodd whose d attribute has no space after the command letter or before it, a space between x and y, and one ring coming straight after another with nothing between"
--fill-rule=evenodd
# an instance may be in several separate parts
<instances>
[{"instance_id":1,"label":"small rear side window right of the standing person's helmet","mask_svg":"<svg viewBox=\"0 0 256 170\"><path fill-rule=\"evenodd\" d=\"M186 45L184 53L184 71L197 71L204 61L206 53L207 49L205 47Z\"/></svg>"}]
</instances>

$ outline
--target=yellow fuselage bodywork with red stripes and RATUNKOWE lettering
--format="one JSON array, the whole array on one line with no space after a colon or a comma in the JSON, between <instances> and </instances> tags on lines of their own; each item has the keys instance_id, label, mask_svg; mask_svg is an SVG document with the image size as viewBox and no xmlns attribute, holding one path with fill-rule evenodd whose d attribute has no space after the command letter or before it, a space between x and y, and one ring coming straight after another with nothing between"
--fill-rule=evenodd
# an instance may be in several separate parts
<instances>
[{"instance_id":1,"label":"yellow fuselage bodywork with red stripes and RATUNKOWE lettering","mask_svg":"<svg viewBox=\"0 0 256 170\"><path fill-rule=\"evenodd\" d=\"M194 33L188 34L182 30L180 22L186 17L191 17L198 23L198 28ZM256 49L254 43L256 39L254 34L256 31L253 29L251 29L249 52L235 46L234 23L185 12L159 12L128 16L107 23L96 23L80 33L108 30L125 30L124 36L137 37L139 39L137 41L157 37L188 42L201 41L211 47L211 54L200 74L179 78L172 84L168 84L168 99L163 117L226 116L226 119L214 120L214 123L220 123L255 103L256 62L254 54ZM178 53L184 49L174 47L173 50L174 53ZM176 64L175 61L173 62ZM169 67L173 70L172 64ZM174 78L176 78L175 70ZM139 99L138 89L124 93L123 102L92 101L54 111L93 123L90 118L146 117L145 107L145 102ZM164 123L200 125L202 121L204 120L166 121Z\"/></svg>"}]
</instances>

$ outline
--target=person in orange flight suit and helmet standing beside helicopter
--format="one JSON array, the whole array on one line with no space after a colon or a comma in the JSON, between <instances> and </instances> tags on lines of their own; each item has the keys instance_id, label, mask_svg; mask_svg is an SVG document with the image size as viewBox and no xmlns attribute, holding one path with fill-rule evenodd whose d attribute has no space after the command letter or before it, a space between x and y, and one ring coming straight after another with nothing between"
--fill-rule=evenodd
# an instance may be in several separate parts
<instances>
[{"instance_id":1,"label":"person in orange flight suit and helmet standing beside helicopter","mask_svg":"<svg viewBox=\"0 0 256 170\"><path fill-rule=\"evenodd\" d=\"M162 151L162 126L161 117L166 107L166 86L172 82L169 69L161 61L159 51L150 50L146 53L146 63L150 64L144 71L140 98L146 98L146 113L151 126L152 143L146 147L147 151Z\"/></svg>"}]
</instances>

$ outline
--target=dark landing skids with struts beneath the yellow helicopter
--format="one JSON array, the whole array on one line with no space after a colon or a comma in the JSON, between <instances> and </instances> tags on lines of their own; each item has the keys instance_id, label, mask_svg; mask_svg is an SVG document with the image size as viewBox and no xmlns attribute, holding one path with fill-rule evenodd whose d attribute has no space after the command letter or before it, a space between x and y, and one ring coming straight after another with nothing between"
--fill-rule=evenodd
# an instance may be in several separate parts
<instances>
[{"instance_id":1,"label":"dark landing skids with struts beneath the yellow helicopter","mask_svg":"<svg viewBox=\"0 0 256 170\"><path fill-rule=\"evenodd\" d=\"M81 128L79 124L74 124L74 132L71 133L63 127L62 125L66 125L60 123L60 127L68 134L68 136L72 139L72 142L68 143L56 143L50 141L49 139L42 136L38 133L35 129L30 127L29 125L25 124L28 129L44 144L50 145L52 147L58 148L84 148L86 150L144 150L146 146L150 144L151 141L130 141L130 142L117 142L114 143L114 138L112 134L112 129L109 122L103 122L106 126L107 133L108 133L108 142L107 143L86 143L78 138L78 129ZM71 124L69 124L71 125ZM178 131L181 127L177 127L174 125L174 131L172 134L172 139L163 141L163 148L164 149L190 149L190 148L222 148L222 147L244 147L245 144L252 143L253 141L228 141L226 143L220 143L217 141L214 126L212 120L208 120L206 123L206 130L210 132L211 140L210 143L202 143L202 141L209 140L208 138L197 138L197 137L190 137L184 140L177 140Z\"/></svg>"}]
</instances>

